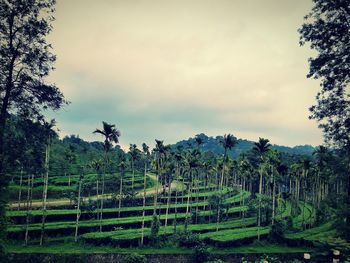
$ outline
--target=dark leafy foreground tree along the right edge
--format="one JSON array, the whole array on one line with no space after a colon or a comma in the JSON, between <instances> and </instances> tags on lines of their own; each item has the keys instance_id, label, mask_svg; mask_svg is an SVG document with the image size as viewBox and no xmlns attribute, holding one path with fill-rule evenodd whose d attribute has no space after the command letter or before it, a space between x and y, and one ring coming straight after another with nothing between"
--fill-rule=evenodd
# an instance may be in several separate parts
<instances>
[{"instance_id":1,"label":"dark leafy foreground tree along the right edge","mask_svg":"<svg viewBox=\"0 0 350 263\"><path fill-rule=\"evenodd\" d=\"M313 1L314 7L299 29L300 44L310 43L317 51L316 57L309 59L307 76L321 81L310 118L319 122L328 142L347 152L350 211L350 1ZM346 222L350 229L350 212Z\"/></svg>"}]
</instances>

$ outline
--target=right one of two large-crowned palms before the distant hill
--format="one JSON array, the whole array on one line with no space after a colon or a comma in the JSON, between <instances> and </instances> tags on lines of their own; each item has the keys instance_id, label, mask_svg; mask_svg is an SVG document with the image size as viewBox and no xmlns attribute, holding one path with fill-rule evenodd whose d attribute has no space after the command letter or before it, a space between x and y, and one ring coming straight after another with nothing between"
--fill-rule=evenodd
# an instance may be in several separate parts
<instances>
[{"instance_id":1,"label":"right one of two large-crowned palms before the distant hill","mask_svg":"<svg viewBox=\"0 0 350 263\"><path fill-rule=\"evenodd\" d=\"M253 151L258 155L259 164L259 210L258 210L258 240L260 240L260 226L261 226L261 195L263 187L263 172L265 154L270 150L271 144L268 139L259 138L258 142L254 143Z\"/></svg>"}]
</instances>

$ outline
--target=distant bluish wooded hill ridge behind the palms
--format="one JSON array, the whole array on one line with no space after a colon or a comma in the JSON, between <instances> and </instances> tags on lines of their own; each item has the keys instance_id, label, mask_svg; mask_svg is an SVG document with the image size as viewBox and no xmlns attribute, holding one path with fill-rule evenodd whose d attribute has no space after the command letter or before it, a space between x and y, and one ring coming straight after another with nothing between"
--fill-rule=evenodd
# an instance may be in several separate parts
<instances>
[{"instance_id":1,"label":"distant bluish wooded hill ridge behind the palms","mask_svg":"<svg viewBox=\"0 0 350 263\"><path fill-rule=\"evenodd\" d=\"M204 133L198 134L196 136L199 136L203 144L200 146L200 149L202 151L211 151L216 154L223 154L224 149L220 144L220 141L223 139L223 136L207 136ZM254 147L254 142L245 140L245 139L238 139L238 144L229 151L229 155L232 158L236 158L240 154L247 152L251 150ZM174 146L183 146L184 148L191 147L190 145L196 145L195 137L189 138L187 140L182 140L177 142ZM272 144L272 149L277 150L279 152L288 153L288 154L301 154L301 155L311 155L315 148L311 145L297 145L294 147L288 147L288 146L282 146L282 145L276 145Z\"/></svg>"}]
</instances>

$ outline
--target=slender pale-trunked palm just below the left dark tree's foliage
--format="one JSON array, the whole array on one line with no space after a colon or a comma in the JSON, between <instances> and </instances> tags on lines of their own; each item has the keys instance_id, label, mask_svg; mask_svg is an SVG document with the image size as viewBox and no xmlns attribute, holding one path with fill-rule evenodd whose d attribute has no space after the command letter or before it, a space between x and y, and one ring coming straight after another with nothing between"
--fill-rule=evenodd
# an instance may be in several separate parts
<instances>
[{"instance_id":1,"label":"slender pale-trunked palm just below the left dark tree's foliage","mask_svg":"<svg viewBox=\"0 0 350 263\"><path fill-rule=\"evenodd\" d=\"M47 189L49 184L49 163L50 163L50 151L51 151L51 142L52 139L57 136L56 132L53 130L53 127L56 125L55 120L50 122L43 121L43 136L46 139L45 146L45 177L44 177L44 187L43 187L43 207L42 207L42 219L41 219L41 235L40 235L40 246L44 242L44 232L45 232L45 219L46 219L46 204L47 204Z\"/></svg>"}]
</instances>

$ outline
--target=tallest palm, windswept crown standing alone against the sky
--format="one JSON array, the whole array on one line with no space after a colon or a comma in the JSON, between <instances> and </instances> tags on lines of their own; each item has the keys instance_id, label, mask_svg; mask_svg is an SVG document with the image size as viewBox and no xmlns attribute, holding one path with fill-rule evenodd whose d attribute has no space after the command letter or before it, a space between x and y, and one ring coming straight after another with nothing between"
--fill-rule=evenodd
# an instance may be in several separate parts
<instances>
[{"instance_id":1,"label":"tallest palm, windswept crown standing alone against the sky","mask_svg":"<svg viewBox=\"0 0 350 263\"><path fill-rule=\"evenodd\" d=\"M98 133L104 136L104 168L102 176L102 198L101 198L101 214L100 214L100 232L102 232L102 218L103 218L103 199L104 199L104 190L105 190L105 176L106 170L109 165L108 153L113 147L113 143L119 143L120 131L115 128L114 124L108 124L107 122L102 122L103 129L96 129L93 133Z\"/></svg>"}]
</instances>

